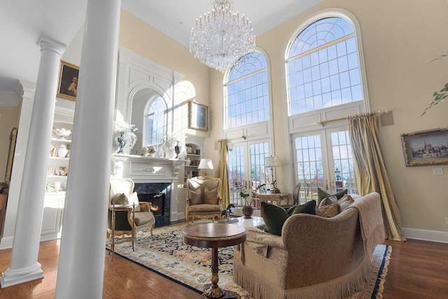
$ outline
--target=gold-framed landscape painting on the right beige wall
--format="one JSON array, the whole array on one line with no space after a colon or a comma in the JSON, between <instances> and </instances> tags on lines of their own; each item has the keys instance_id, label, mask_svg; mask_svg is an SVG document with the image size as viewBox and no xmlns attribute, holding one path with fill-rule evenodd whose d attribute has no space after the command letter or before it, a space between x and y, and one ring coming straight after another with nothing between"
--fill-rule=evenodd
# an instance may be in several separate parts
<instances>
[{"instance_id":1,"label":"gold-framed landscape painting on the right beige wall","mask_svg":"<svg viewBox=\"0 0 448 299\"><path fill-rule=\"evenodd\" d=\"M448 164L448 128L401 134L406 166Z\"/></svg>"}]
</instances>

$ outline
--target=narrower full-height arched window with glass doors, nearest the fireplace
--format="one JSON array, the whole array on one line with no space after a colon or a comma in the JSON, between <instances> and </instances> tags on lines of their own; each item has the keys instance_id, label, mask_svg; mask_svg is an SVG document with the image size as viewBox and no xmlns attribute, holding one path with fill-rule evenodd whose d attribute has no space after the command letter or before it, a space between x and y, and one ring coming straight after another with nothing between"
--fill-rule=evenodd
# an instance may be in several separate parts
<instances>
[{"instance_id":1,"label":"narrower full-height arched window with glass doors, nearest the fireplace","mask_svg":"<svg viewBox=\"0 0 448 299\"><path fill-rule=\"evenodd\" d=\"M241 186L246 192L267 183L265 158L269 157L269 83L267 60L248 53L228 73L224 82L225 134L251 132L248 139L232 139L228 165L230 202L241 206ZM255 204L258 207L258 204Z\"/></svg>"}]
</instances>

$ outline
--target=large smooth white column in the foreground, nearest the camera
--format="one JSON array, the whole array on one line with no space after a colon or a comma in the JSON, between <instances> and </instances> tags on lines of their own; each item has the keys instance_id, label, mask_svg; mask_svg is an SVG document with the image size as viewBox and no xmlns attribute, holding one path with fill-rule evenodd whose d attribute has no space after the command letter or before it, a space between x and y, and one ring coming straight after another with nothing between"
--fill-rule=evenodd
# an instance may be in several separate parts
<instances>
[{"instance_id":1,"label":"large smooth white column in the foreground, nearest the camera","mask_svg":"<svg viewBox=\"0 0 448 299\"><path fill-rule=\"evenodd\" d=\"M55 298L102 298L120 0L89 0Z\"/></svg>"}]
</instances>

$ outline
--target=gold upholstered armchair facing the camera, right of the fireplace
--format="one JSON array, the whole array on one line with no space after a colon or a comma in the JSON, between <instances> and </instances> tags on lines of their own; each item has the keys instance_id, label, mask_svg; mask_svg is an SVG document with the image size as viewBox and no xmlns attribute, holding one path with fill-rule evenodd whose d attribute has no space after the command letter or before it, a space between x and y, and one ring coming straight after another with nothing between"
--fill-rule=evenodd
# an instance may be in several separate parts
<instances>
[{"instance_id":1,"label":"gold upholstered armchair facing the camera, right of the fireplace","mask_svg":"<svg viewBox=\"0 0 448 299\"><path fill-rule=\"evenodd\" d=\"M186 199L186 221L187 226L190 218L192 221L198 219L221 218L221 197L219 189L221 188L221 179L211 176L195 176L188 179Z\"/></svg>"}]
</instances>

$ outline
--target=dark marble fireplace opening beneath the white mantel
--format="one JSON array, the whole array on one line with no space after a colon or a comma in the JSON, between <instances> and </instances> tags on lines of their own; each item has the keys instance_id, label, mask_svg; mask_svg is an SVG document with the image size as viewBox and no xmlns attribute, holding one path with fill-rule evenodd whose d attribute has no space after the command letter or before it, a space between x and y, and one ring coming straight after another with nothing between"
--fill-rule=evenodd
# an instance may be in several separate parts
<instances>
[{"instance_id":1,"label":"dark marble fireplace opening beneath the white mantel","mask_svg":"<svg viewBox=\"0 0 448 299\"><path fill-rule=\"evenodd\" d=\"M135 183L134 192L139 201L151 202L155 228L169 225L171 183Z\"/></svg>"}]
</instances>

